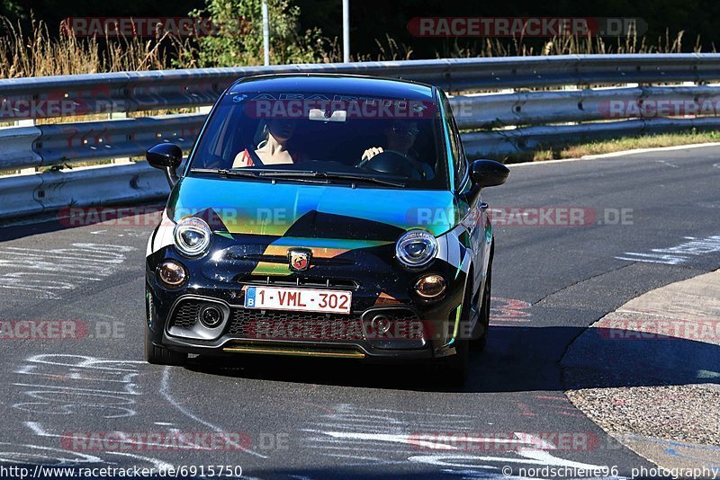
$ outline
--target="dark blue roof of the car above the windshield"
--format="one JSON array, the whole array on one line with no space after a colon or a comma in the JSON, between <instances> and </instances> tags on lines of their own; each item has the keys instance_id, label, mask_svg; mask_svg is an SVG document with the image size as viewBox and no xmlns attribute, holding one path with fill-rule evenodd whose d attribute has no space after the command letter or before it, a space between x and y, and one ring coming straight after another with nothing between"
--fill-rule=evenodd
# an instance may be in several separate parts
<instances>
[{"instance_id":1,"label":"dark blue roof of the car above the windshield","mask_svg":"<svg viewBox=\"0 0 720 480\"><path fill-rule=\"evenodd\" d=\"M344 74L275 74L239 79L228 93L321 93L435 103L435 87L408 80Z\"/></svg>"}]
</instances>

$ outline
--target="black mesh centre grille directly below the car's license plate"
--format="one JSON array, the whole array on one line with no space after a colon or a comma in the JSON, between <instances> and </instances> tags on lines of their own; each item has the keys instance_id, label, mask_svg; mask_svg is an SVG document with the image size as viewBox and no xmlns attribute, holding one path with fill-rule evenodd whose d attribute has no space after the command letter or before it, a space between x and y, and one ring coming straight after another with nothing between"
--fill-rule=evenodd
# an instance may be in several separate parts
<instances>
[{"instance_id":1,"label":"black mesh centre grille directly below the car's license plate","mask_svg":"<svg viewBox=\"0 0 720 480\"><path fill-rule=\"evenodd\" d=\"M309 341L360 341L363 324L356 316L234 309L227 333L239 338Z\"/></svg>"}]
</instances>

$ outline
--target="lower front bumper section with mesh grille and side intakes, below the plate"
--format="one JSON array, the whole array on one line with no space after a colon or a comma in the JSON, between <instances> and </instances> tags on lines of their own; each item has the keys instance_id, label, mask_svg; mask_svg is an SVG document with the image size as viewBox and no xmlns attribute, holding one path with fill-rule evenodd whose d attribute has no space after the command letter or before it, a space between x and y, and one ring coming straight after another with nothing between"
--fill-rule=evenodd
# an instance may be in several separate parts
<instances>
[{"instance_id":1,"label":"lower front bumper section with mesh grille and side intakes, below the plate","mask_svg":"<svg viewBox=\"0 0 720 480\"><path fill-rule=\"evenodd\" d=\"M417 309L410 306L372 307L349 316L338 316L246 309L217 297L192 294L177 298L166 321L160 322L153 321L159 317L155 305L154 300L148 302L148 324L156 327L155 332L151 330L153 342L175 351L366 360L423 359L454 352L448 347L437 348L446 346L446 335L441 330L447 331L448 323L423 320ZM196 320L192 322L198 310L207 305L217 306L223 312L222 324L214 329ZM374 324L378 316L389 319L388 332L378 331Z\"/></svg>"}]
</instances>

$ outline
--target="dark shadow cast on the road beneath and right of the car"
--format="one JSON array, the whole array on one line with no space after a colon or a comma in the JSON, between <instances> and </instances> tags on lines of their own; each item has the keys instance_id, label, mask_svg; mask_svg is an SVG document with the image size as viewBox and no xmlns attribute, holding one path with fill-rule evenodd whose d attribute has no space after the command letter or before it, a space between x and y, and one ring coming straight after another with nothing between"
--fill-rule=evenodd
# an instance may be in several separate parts
<instances>
[{"instance_id":1,"label":"dark shadow cast on the road beneath and right of the car","mask_svg":"<svg viewBox=\"0 0 720 480\"><path fill-rule=\"evenodd\" d=\"M375 364L358 360L236 356L198 359L188 369L230 378L257 378L343 387L447 392L564 391L568 387L641 387L716 383L720 378L720 346L673 337L617 338L607 329L588 330L579 342L592 349L565 346L585 328L491 327L485 351L471 352L464 387L447 387L428 365ZM590 335L590 341L589 341ZM636 360L617 351L635 352ZM572 386L563 382L570 380Z\"/></svg>"}]
</instances>

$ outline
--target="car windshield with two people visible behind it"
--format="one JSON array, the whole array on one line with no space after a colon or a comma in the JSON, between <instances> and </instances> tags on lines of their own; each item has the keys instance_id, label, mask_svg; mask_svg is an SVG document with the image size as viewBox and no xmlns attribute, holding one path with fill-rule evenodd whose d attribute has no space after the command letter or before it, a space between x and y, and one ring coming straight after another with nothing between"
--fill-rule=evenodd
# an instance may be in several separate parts
<instances>
[{"instance_id":1,"label":"car windshield with two people visible behind it","mask_svg":"<svg viewBox=\"0 0 720 480\"><path fill-rule=\"evenodd\" d=\"M432 102L407 99L227 93L193 152L190 172L444 190L436 110Z\"/></svg>"}]
</instances>

